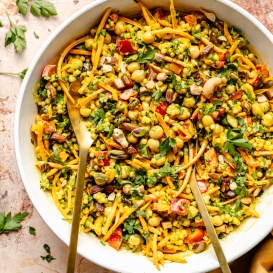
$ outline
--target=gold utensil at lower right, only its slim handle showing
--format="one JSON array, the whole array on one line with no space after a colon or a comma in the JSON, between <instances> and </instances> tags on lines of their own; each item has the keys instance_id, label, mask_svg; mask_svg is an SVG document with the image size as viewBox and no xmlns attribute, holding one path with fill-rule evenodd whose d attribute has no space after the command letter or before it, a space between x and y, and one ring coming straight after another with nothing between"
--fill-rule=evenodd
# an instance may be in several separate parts
<instances>
[{"instance_id":1,"label":"gold utensil at lower right, only its slim handle showing","mask_svg":"<svg viewBox=\"0 0 273 273\"><path fill-rule=\"evenodd\" d=\"M225 257L225 254L224 254L223 249L220 245L218 236L217 236L214 226L210 220L210 216L207 211L207 207L204 202L203 196L199 190L199 187L198 187L198 184L196 181L196 177L195 177L195 167L193 168L193 171L192 171L192 174L190 177L190 186L191 186L192 193L195 197L195 200L197 201L197 205L198 205L200 214L201 214L202 219L204 221L206 230L209 234L210 241L211 241L212 246L214 248L214 251L215 251L215 254L216 254L217 259L219 261L222 272L223 273L231 273L229 265L228 265L226 257Z\"/></svg>"}]
</instances>

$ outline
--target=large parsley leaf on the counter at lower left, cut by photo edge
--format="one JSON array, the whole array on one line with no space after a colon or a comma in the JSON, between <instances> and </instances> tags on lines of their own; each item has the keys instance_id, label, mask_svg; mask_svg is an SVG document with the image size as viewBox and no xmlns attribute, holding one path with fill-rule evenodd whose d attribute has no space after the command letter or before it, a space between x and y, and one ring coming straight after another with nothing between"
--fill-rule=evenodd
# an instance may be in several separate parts
<instances>
[{"instance_id":1,"label":"large parsley leaf on the counter at lower left, cut by photo edge","mask_svg":"<svg viewBox=\"0 0 273 273\"><path fill-rule=\"evenodd\" d=\"M0 234L18 230L22 227L20 223L24 221L27 216L28 212L19 212L13 217L11 217L11 213L5 216L5 212L0 212Z\"/></svg>"}]
</instances>

